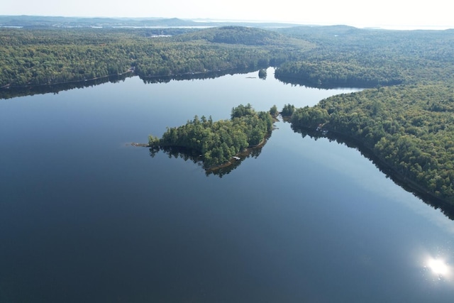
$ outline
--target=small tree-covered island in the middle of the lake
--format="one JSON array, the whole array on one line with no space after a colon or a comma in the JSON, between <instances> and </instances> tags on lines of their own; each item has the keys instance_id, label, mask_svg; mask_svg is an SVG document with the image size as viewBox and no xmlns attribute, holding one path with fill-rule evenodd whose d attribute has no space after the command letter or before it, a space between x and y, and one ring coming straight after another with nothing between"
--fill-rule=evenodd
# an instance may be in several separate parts
<instances>
[{"instance_id":1,"label":"small tree-covered island in the middle of the lake","mask_svg":"<svg viewBox=\"0 0 454 303\"><path fill-rule=\"evenodd\" d=\"M250 104L232 109L230 120L195 116L184 126L167 128L161 138L149 136L151 149L183 148L201 155L206 169L223 165L246 148L265 141L272 131L270 111L255 111Z\"/></svg>"}]
</instances>

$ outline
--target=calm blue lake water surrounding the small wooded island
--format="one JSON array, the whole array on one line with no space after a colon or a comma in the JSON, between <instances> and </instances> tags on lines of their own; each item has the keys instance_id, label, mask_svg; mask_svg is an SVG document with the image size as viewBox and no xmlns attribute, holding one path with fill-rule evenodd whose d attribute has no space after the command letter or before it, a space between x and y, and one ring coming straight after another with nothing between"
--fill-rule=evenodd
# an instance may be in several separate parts
<instances>
[{"instance_id":1,"label":"calm blue lake water surrounding the small wooded island","mask_svg":"<svg viewBox=\"0 0 454 303\"><path fill-rule=\"evenodd\" d=\"M256 76L1 100L0 302L452 302L453 221L355 149L278 122L207 177L127 145L353 91Z\"/></svg>"}]
</instances>

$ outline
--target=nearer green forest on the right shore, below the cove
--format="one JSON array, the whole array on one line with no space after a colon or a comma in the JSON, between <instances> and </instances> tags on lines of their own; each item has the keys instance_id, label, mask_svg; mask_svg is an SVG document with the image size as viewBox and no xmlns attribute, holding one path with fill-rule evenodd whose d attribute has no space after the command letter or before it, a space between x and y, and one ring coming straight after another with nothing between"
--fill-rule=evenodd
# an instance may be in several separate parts
<instances>
[{"instance_id":1,"label":"nearer green forest on the right shore, below the cove","mask_svg":"<svg viewBox=\"0 0 454 303\"><path fill-rule=\"evenodd\" d=\"M360 141L404 180L454 205L454 85L367 89L296 109L294 128Z\"/></svg>"}]
</instances>

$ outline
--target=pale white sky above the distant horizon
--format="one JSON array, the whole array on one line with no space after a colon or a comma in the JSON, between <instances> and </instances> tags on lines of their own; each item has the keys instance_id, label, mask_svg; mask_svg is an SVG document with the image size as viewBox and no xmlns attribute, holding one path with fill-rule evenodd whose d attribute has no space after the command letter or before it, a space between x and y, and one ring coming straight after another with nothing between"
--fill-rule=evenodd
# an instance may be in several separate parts
<instances>
[{"instance_id":1,"label":"pale white sky above the distant horizon","mask_svg":"<svg viewBox=\"0 0 454 303\"><path fill-rule=\"evenodd\" d=\"M211 18L359 28L454 28L450 1L1 0L0 15Z\"/></svg>"}]
</instances>

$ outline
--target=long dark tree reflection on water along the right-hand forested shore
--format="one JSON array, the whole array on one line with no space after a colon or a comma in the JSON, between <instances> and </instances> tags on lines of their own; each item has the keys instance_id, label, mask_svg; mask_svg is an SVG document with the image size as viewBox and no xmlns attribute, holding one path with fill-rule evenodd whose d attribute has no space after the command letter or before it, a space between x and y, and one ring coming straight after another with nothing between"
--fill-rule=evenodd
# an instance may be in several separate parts
<instances>
[{"instance_id":1,"label":"long dark tree reflection on water along the right-hand forested shore","mask_svg":"<svg viewBox=\"0 0 454 303\"><path fill-rule=\"evenodd\" d=\"M339 144L346 145L348 148L355 148L361 153L363 157L372 161L372 163L374 163L375 167L377 167L380 172L384 173L387 178L391 179L395 184L399 185L399 187L402 187L407 192L411 192L411 194L414 194L415 197L418 197L422 200L422 202L428 204L434 209L440 209L440 211L450 220L454 220L454 206L448 204L448 202L445 202L443 199L434 197L429 192L426 192L423 188L418 187L418 185L414 184L414 182L411 182L411 180L408 180L402 174L399 174L399 172L393 170L392 167L377 158L377 156L374 155L371 150L366 148L360 142L354 141L351 138L347 138L338 133L329 132L323 134L321 133L321 131L310 130L307 128L297 128L293 125L292 130L295 133L300 133L303 138L305 138L306 136L309 136L309 138L312 138L314 140L317 140L319 138L327 138L330 142L335 141Z\"/></svg>"}]
</instances>

